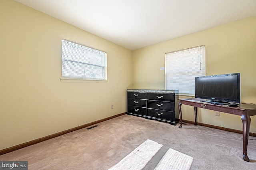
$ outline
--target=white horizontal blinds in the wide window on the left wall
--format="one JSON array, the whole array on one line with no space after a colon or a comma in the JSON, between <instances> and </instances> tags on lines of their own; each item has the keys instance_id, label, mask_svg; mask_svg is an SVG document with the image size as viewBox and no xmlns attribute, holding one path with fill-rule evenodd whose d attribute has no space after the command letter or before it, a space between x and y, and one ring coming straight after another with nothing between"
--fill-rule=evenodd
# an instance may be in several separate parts
<instances>
[{"instance_id":1,"label":"white horizontal blinds in the wide window on the left wall","mask_svg":"<svg viewBox=\"0 0 256 170\"><path fill-rule=\"evenodd\" d=\"M106 52L62 40L62 77L106 80Z\"/></svg>"}]
</instances>

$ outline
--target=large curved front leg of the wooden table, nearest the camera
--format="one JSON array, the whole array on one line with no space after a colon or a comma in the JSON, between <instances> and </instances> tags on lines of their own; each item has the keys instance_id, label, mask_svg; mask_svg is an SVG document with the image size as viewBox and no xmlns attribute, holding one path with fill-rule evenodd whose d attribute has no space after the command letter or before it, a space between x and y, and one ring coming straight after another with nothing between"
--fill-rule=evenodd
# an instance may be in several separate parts
<instances>
[{"instance_id":1,"label":"large curved front leg of the wooden table, nearest the camera","mask_svg":"<svg viewBox=\"0 0 256 170\"><path fill-rule=\"evenodd\" d=\"M241 119L243 121L243 159L247 162L250 162L250 159L247 156L247 146L248 146L251 118L250 116L248 116L247 113L243 113Z\"/></svg>"}]
</instances>

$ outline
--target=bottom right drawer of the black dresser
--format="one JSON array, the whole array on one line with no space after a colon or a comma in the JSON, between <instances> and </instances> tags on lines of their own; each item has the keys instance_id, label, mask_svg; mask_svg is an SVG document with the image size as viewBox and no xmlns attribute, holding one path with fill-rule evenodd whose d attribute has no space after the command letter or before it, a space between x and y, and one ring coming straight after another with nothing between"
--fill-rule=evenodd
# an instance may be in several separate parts
<instances>
[{"instance_id":1,"label":"bottom right drawer of the black dresser","mask_svg":"<svg viewBox=\"0 0 256 170\"><path fill-rule=\"evenodd\" d=\"M159 119L175 120L174 112L162 111L157 109L148 109L148 116L156 117Z\"/></svg>"}]
</instances>

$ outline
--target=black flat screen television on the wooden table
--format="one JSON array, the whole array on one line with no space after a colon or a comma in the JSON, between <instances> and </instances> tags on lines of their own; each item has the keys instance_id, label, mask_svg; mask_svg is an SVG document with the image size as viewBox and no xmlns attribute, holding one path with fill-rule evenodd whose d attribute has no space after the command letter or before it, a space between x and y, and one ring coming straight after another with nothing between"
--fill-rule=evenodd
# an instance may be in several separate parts
<instances>
[{"instance_id":1,"label":"black flat screen television on the wooden table","mask_svg":"<svg viewBox=\"0 0 256 170\"><path fill-rule=\"evenodd\" d=\"M195 97L220 105L240 103L240 73L195 77Z\"/></svg>"}]
</instances>

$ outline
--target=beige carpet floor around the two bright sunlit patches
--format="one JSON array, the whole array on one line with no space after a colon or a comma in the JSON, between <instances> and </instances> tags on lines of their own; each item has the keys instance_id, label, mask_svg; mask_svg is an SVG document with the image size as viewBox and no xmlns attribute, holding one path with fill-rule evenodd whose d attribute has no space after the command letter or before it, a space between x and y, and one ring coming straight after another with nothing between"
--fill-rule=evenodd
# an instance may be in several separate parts
<instances>
[{"instance_id":1,"label":"beige carpet floor around the two bright sunlit patches","mask_svg":"<svg viewBox=\"0 0 256 170\"><path fill-rule=\"evenodd\" d=\"M241 121L240 116L237 119ZM190 170L254 170L256 167L256 137L253 136L249 136L250 162L246 162L242 157L242 134L192 124L178 128L179 124L173 126L132 115L97 125L0 155L0 160L28 161L29 170L108 170L150 139L163 146L143 170L154 170L169 148L193 157ZM251 126L255 125L252 121Z\"/></svg>"}]
</instances>

